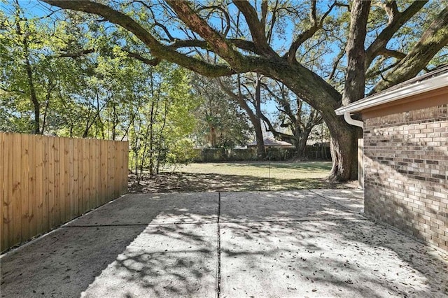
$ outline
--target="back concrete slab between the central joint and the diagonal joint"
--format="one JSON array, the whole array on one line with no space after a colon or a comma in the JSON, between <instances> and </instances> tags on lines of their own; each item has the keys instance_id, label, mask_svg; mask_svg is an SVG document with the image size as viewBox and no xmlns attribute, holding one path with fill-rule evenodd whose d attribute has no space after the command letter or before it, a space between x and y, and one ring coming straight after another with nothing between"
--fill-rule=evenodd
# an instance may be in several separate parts
<instances>
[{"instance_id":1,"label":"back concrete slab between the central joint and the diagonal joint","mask_svg":"<svg viewBox=\"0 0 448 298\"><path fill-rule=\"evenodd\" d=\"M223 192L223 222L362 219L309 190L283 192Z\"/></svg>"}]
</instances>

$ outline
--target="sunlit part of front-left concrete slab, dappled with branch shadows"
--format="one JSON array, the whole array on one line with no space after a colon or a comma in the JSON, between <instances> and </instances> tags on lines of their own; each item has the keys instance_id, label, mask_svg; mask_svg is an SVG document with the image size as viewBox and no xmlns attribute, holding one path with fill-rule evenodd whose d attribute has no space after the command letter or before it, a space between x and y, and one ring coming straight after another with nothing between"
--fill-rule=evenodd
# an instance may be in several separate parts
<instances>
[{"instance_id":1,"label":"sunlit part of front-left concrete slab, dappled with branch shadows","mask_svg":"<svg viewBox=\"0 0 448 298\"><path fill-rule=\"evenodd\" d=\"M214 297L216 225L151 225L81 297Z\"/></svg>"}]
</instances>

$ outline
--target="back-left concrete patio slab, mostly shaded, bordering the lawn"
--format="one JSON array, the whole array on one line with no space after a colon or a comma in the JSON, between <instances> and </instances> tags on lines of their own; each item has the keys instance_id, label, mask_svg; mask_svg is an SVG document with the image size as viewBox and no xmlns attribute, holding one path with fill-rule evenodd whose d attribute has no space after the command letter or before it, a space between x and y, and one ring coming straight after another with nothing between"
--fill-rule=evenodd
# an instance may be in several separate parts
<instances>
[{"instance_id":1,"label":"back-left concrete patio slab, mostly shaded, bordering the lawn","mask_svg":"<svg viewBox=\"0 0 448 298\"><path fill-rule=\"evenodd\" d=\"M127 194L66 226L204 223L218 220L218 193Z\"/></svg>"}]
</instances>

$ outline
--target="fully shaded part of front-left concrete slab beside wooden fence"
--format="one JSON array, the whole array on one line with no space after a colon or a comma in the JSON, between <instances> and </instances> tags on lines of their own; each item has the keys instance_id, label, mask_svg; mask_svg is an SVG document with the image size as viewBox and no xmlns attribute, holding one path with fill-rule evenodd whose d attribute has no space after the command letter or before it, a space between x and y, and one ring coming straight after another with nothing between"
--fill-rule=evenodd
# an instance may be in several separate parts
<instances>
[{"instance_id":1,"label":"fully shaded part of front-left concrete slab beside wooden fence","mask_svg":"<svg viewBox=\"0 0 448 298\"><path fill-rule=\"evenodd\" d=\"M59 228L35 239L1 256L1 297L79 297L144 228Z\"/></svg>"}]
</instances>

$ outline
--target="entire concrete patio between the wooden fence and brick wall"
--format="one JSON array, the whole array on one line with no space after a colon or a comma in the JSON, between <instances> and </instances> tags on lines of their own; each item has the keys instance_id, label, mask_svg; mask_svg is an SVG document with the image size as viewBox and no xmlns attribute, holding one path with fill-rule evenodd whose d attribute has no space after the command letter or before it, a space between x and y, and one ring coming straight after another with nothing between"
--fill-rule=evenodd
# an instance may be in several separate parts
<instances>
[{"instance_id":1,"label":"entire concrete patio between the wooden fence and brick wall","mask_svg":"<svg viewBox=\"0 0 448 298\"><path fill-rule=\"evenodd\" d=\"M358 190L128 194L0 258L1 297L447 297Z\"/></svg>"}]
</instances>

